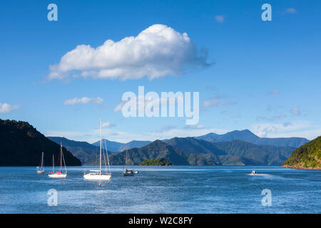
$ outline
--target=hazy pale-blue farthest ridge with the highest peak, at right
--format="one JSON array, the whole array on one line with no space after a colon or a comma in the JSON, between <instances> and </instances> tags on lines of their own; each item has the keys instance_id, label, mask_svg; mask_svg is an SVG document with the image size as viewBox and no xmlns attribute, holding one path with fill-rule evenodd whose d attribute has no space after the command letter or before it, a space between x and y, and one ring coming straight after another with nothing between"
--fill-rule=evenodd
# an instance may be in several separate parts
<instances>
[{"instance_id":1,"label":"hazy pale-blue farthest ridge with the highest peak, at right","mask_svg":"<svg viewBox=\"0 0 321 228\"><path fill-rule=\"evenodd\" d=\"M257 145L275 145L275 146L285 146L285 147L300 147L301 145L309 142L306 138L260 138L255 135L250 130L233 130L229 133L223 135L218 135L215 133L208 133L207 135L202 135L194 137L199 140L206 140L209 142L228 142L233 140L241 140L244 142L251 142Z\"/></svg>"}]
</instances>

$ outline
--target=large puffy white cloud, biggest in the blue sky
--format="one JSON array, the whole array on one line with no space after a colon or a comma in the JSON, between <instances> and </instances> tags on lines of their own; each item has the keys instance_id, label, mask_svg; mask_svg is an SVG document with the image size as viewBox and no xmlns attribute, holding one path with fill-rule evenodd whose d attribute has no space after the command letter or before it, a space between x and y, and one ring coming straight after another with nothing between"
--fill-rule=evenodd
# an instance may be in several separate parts
<instances>
[{"instance_id":1,"label":"large puffy white cloud, biggest in the blue sky","mask_svg":"<svg viewBox=\"0 0 321 228\"><path fill-rule=\"evenodd\" d=\"M198 51L187 33L179 33L162 24L154 24L138 36L121 41L107 40L102 46L78 45L50 66L49 79L70 76L83 78L150 80L178 76L187 68L205 67L207 52Z\"/></svg>"}]
</instances>

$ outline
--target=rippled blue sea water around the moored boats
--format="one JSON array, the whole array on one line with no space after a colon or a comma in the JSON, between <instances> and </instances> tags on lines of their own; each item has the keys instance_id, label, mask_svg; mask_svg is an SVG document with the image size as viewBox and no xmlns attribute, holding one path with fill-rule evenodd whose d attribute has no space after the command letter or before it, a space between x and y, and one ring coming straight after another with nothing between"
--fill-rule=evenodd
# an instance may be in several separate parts
<instances>
[{"instance_id":1,"label":"rippled blue sea water around the moored boats","mask_svg":"<svg viewBox=\"0 0 321 228\"><path fill-rule=\"evenodd\" d=\"M133 167L109 182L83 180L95 167L67 167L66 179L36 167L0 167L0 213L320 213L321 171L285 167ZM252 170L258 175L249 175ZM101 185L99 185L101 184ZM56 206L49 190L56 190ZM262 195L270 190L270 195ZM266 192L266 191L265 191ZM263 197L270 197L270 206Z\"/></svg>"}]
</instances>

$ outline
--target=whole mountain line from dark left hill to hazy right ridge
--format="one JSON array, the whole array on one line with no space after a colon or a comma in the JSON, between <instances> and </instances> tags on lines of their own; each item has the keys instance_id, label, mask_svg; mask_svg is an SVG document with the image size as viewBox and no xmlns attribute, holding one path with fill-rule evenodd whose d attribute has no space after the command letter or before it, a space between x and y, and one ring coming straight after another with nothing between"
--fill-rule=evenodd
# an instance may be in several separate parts
<instances>
[{"instance_id":1,"label":"whole mountain line from dark left hill to hazy right ridge","mask_svg":"<svg viewBox=\"0 0 321 228\"><path fill-rule=\"evenodd\" d=\"M63 144L67 165L94 165L99 142L90 144L61 137L48 137L29 123L0 121L0 165L39 165L45 152L45 165L58 157ZM123 165L126 143L104 139L111 164ZM250 130L235 130L224 135L210 133L199 137L128 142L128 162L139 165L143 160L165 159L173 165L282 165L305 138L260 138ZM69 152L70 151L70 152Z\"/></svg>"}]
</instances>

